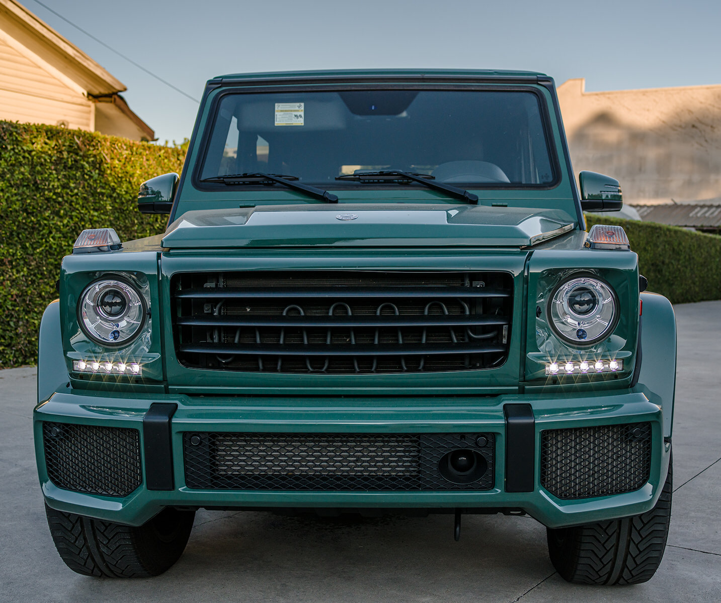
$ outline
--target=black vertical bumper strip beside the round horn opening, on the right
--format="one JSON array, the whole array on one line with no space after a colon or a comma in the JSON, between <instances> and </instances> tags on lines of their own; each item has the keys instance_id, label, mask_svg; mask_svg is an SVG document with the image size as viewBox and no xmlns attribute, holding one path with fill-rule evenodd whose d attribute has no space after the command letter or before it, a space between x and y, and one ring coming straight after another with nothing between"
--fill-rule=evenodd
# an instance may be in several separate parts
<instances>
[{"instance_id":1,"label":"black vertical bumper strip beside the round horn opening, on the right","mask_svg":"<svg viewBox=\"0 0 721 603\"><path fill-rule=\"evenodd\" d=\"M536 481L536 419L530 404L505 404L505 491L532 492Z\"/></svg>"}]
</instances>

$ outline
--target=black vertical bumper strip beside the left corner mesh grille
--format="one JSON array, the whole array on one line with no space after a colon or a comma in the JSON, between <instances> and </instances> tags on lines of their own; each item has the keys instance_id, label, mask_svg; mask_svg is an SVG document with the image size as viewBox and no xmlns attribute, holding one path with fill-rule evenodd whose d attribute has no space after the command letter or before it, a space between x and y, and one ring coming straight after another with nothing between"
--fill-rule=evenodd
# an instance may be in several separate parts
<instances>
[{"instance_id":1,"label":"black vertical bumper strip beside the left corner mesh grille","mask_svg":"<svg viewBox=\"0 0 721 603\"><path fill-rule=\"evenodd\" d=\"M170 421L177 404L155 402L143 417L143 456L149 490L174 490Z\"/></svg>"}]
</instances>

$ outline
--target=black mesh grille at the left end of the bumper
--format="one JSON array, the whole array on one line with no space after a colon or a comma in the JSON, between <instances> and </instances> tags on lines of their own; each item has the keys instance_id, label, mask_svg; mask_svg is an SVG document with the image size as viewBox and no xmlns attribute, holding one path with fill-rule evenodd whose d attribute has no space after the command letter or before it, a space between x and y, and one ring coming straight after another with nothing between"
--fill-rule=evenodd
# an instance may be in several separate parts
<instances>
[{"instance_id":1,"label":"black mesh grille at the left end of the bumper","mask_svg":"<svg viewBox=\"0 0 721 603\"><path fill-rule=\"evenodd\" d=\"M43 446L58 488L127 496L143 483L137 429L43 423Z\"/></svg>"}]
</instances>

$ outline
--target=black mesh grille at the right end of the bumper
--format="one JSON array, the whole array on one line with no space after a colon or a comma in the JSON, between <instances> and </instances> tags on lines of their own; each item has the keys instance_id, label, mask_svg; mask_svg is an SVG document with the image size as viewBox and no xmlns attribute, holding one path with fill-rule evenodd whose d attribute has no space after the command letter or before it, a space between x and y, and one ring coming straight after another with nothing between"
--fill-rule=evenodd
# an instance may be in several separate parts
<instances>
[{"instance_id":1,"label":"black mesh grille at the right end of the bumper","mask_svg":"<svg viewBox=\"0 0 721 603\"><path fill-rule=\"evenodd\" d=\"M650 423L541 432L541 485L559 499L631 492L650 469Z\"/></svg>"}]
</instances>

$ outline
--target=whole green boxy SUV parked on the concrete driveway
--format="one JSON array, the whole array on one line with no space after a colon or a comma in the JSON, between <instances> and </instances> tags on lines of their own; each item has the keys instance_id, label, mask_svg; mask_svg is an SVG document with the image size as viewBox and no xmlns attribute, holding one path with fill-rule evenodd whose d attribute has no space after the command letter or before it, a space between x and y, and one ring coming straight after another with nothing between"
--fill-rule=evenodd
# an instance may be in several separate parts
<instances>
[{"instance_id":1,"label":"whole green boxy SUV parked on the concrete driveway","mask_svg":"<svg viewBox=\"0 0 721 603\"><path fill-rule=\"evenodd\" d=\"M162 573L201 508L503 513L569 581L650 579L675 321L622 228L586 231L619 183L578 182L541 73L208 81L182 174L138 196L167 230L81 233L43 316L63 560Z\"/></svg>"}]
</instances>

